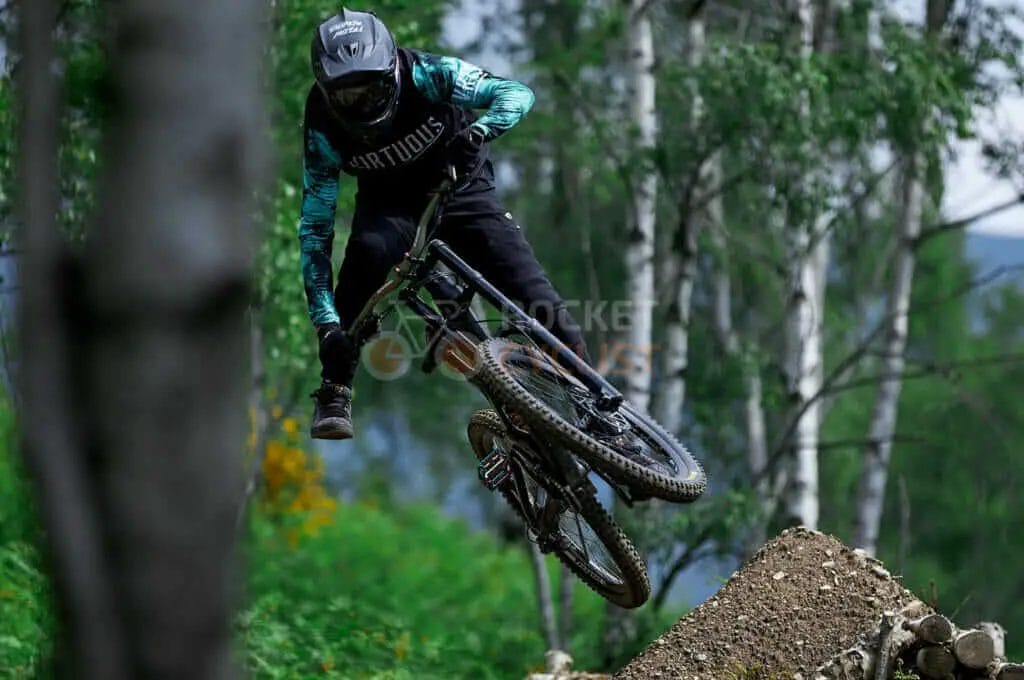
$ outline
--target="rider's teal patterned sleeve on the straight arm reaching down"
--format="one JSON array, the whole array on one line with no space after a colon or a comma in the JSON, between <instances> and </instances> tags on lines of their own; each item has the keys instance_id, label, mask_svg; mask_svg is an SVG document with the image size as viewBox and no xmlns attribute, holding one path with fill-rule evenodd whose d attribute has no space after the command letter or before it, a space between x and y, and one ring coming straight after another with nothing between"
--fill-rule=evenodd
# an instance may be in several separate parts
<instances>
[{"instance_id":1,"label":"rider's teal patterned sleeve on the straight arm reaching down","mask_svg":"<svg viewBox=\"0 0 1024 680\"><path fill-rule=\"evenodd\" d=\"M302 163L302 214L299 218L299 248L302 281L315 325L338 323L332 287L331 251L334 245L334 217L338 204L338 175L341 155L327 135L305 124L305 152Z\"/></svg>"}]
</instances>

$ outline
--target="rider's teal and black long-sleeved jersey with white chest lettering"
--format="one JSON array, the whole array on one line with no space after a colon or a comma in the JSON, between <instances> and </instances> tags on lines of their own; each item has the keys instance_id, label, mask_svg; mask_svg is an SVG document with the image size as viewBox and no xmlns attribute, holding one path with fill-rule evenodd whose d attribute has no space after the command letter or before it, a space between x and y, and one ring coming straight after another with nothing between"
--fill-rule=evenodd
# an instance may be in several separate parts
<instances>
[{"instance_id":1,"label":"rider's teal and black long-sleeved jersey with white chest lettering","mask_svg":"<svg viewBox=\"0 0 1024 680\"><path fill-rule=\"evenodd\" d=\"M360 202L420 204L441 177L445 147L463 128L472 125L489 141L514 127L534 104L534 93L522 83L455 57L398 52L398 105L387 127L372 136L335 117L315 86L306 98L299 243L315 325L338 321L331 252L339 175L356 178ZM477 118L473 110L484 111ZM486 146L480 154L474 164L485 160Z\"/></svg>"}]
</instances>

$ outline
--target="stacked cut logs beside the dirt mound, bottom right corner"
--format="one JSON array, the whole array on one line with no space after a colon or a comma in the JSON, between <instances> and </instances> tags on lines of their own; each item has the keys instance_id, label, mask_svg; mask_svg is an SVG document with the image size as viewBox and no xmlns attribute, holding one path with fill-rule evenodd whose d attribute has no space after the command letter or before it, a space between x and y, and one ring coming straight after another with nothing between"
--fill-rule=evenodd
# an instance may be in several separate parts
<instances>
[{"instance_id":1,"label":"stacked cut logs beside the dirt mound, bottom right corner","mask_svg":"<svg viewBox=\"0 0 1024 680\"><path fill-rule=\"evenodd\" d=\"M898 612L883 613L873 631L822 664L810 677L1024 680L1024 664L1007 662L1005 641L1006 631L998 624L983 623L962 630L916 602Z\"/></svg>"}]
</instances>

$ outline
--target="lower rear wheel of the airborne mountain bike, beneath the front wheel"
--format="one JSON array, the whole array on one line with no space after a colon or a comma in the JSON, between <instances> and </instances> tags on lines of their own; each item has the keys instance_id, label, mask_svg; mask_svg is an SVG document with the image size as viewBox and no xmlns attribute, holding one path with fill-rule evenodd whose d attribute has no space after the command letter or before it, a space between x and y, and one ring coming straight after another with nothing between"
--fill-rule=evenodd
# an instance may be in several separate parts
<instances>
[{"instance_id":1,"label":"lower rear wheel of the airborne mountain bike, beneath the front wheel","mask_svg":"<svg viewBox=\"0 0 1024 680\"><path fill-rule=\"evenodd\" d=\"M498 491L523 520L529 540L614 604L631 608L647 600L643 559L593 493L579 495L574 510L542 472L539 452L513 440L494 411L473 414L467 434L478 460L505 459L508 476Z\"/></svg>"}]
</instances>

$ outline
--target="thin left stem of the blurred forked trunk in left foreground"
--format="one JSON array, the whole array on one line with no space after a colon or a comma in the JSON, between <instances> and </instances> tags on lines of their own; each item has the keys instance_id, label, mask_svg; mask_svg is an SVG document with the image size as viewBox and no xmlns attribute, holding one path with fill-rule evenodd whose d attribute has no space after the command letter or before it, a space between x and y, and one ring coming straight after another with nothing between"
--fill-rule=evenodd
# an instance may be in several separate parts
<instances>
[{"instance_id":1,"label":"thin left stem of the blurred forked trunk in left foreground","mask_svg":"<svg viewBox=\"0 0 1024 680\"><path fill-rule=\"evenodd\" d=\"M59 86L52 0L18 5L22 50L20 181L25 289L20 296L25 458L46 526L62 624L55 658L65 677L126 678L123 631L104 578L102 518L86 478L70 399L67 251L57 230Z\"/></svg>"}]
</instances>

